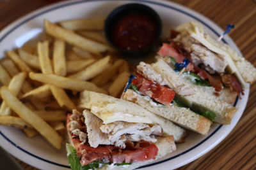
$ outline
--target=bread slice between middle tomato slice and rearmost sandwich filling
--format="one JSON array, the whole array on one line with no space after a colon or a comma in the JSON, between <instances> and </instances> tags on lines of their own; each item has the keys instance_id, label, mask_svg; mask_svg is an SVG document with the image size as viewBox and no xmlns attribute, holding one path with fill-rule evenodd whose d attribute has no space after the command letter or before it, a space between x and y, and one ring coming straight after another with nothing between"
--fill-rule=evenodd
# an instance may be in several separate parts
<instances>
[{"instance_id":1,"label":"bread slice between middle tomato slice and rearmost sandwich filling","mask_svg":"<svg viewBox=\"0 0 256 170\"><path fill-rule=\"evenodd\" d=\"M141 72L144 72L144 66L145 63L141 62L140 65L137 66L137 69ZM180 96L180 99L186 101L189 108L194 107L202 111L211 110L218 115L218 117L215 118L214 122L218 122L220 124L230 124L230 121L237 110L236 108L234 108L234 106L226 102L220 101L217 96L214 96L209 92L202 90L200 86L195 85L191 83L191 81L182 78L182 76L179 76L179 73L176 73L172 69L172 67L170 67L166 62L164 62L164 60L160 58L158 58L157 62L151 64L150 67L154 69L154 71L156 71L158 74L161 74L166 85L172 87L175 92L177 92L177 89L179 89L179 87L189 87L189 89L194 92L192 95L189 96ZM156 80L152 81L157 82ZM176 94L176 96L178 95Z\"/></svg>"}]
</instances>

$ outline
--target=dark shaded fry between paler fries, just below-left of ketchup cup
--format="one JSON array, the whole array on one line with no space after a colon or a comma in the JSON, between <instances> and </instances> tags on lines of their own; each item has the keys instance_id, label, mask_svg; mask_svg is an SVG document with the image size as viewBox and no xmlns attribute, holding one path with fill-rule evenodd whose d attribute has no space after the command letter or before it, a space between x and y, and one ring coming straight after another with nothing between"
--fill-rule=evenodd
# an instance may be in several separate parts
<instances>
[{"instance_id":1,"label":"dark shaded fry between paler fries, just below-left of ketchup cup","mask_svg":"<svg viewBox=\"0 0 256 170\"><path fill-rule=\"evenodd\" d=\"M113 66L108 67L108 69L106 69L106 71L104 71L103 73L101 73L98 76L96 76L95 78L93 78L93 80L91 82L95 83L95 85L97 85L99 87L102 87L103 85L108 83L108 81L111 79L111 77L113 77L116 74L116 72L118 71L118 67L120 67L124 62L125 62L124 59L116 60L115 63L113 64Z\"/></svg>"}]
</instances>

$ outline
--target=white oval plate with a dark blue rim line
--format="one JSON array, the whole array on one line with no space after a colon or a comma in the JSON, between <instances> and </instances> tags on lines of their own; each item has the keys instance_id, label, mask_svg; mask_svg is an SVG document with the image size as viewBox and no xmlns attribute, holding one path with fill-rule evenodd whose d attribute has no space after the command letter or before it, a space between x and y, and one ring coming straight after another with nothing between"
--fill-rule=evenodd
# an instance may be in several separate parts
<instances>
[{"instance_id":1,"label":"white oval plate with a dark blue rim line","mask_svg":"<svg viewBox=\"0 0 256 170\"><path fill-rule=\"evenodd\" d=\"M207 31L216 38L223 32L218 25L199 13L179 4L165 1L66 1L36 10L1 31L0 56L3 57L6 50L19 48L26 41L42 32L44 18L51 22L57 22L75 18L106 17L111 10L125 3L143 3L156 10L163 21L163 36L167 34L170 28L191 20L196 20L203 24ZM228 36L225 36L225 42L239 52L234 41ZM243 99L236 101L235 105L239 110L230 125L214 124L207 136L191 132L188 138L186 138L185 143L177 145L176 152L167 155L161 160L157 160L153 164L143 166L143 169L175 169L209 152L237 124L246 106L248 94L249 88L244 91ZM64 143L61 150L56 150L40 136L29 139L19 129L1 126L0 145L13 156L40 169L70 168L66 158Z\"/></svg>"}]
</instances>

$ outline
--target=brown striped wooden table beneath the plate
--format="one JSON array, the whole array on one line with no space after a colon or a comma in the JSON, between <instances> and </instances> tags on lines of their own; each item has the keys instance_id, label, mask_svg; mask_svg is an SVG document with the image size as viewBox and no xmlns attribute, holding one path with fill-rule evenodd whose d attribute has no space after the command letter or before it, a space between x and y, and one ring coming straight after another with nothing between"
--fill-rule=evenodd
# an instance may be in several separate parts
<instances>
[{"instance_id":1,"label":"brown striped wooden table beneath the plate","mask_svg":"<svg viewBox=\"0 0 256 170\"><path fill-rule=\"evenodd\" d=\"M0 0L0 30L14 20L54 1ZM221 28L235 24L229 34L244 57L256 66L256 3L253 0L175 0L202 13ZM256 83L243 117L235 129L211 152L179 169L256 169ZM20 162L24 169L36 169Z\"/></svg>"}]
</instances>

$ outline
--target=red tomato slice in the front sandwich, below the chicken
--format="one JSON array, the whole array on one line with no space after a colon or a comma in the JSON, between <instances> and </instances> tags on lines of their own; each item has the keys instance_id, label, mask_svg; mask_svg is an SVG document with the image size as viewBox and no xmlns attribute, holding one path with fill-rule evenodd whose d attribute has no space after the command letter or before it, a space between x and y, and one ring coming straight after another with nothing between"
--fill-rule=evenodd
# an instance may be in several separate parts
<instances>
[{"instance_id":1,"label":"red tomato slice in the front sandwich, below the chicken","mask_svg":"<svg viewBox=\"0 0 256 170\"><path fill-rule=\"evenodd\" d=\"M136 150L124 150L124 152L114 151L113 162L116 164L130 163L130 162L142 162L145 160L156 159L158 148L151 143L145 148Z\"/></svg>"}]
</instances>

